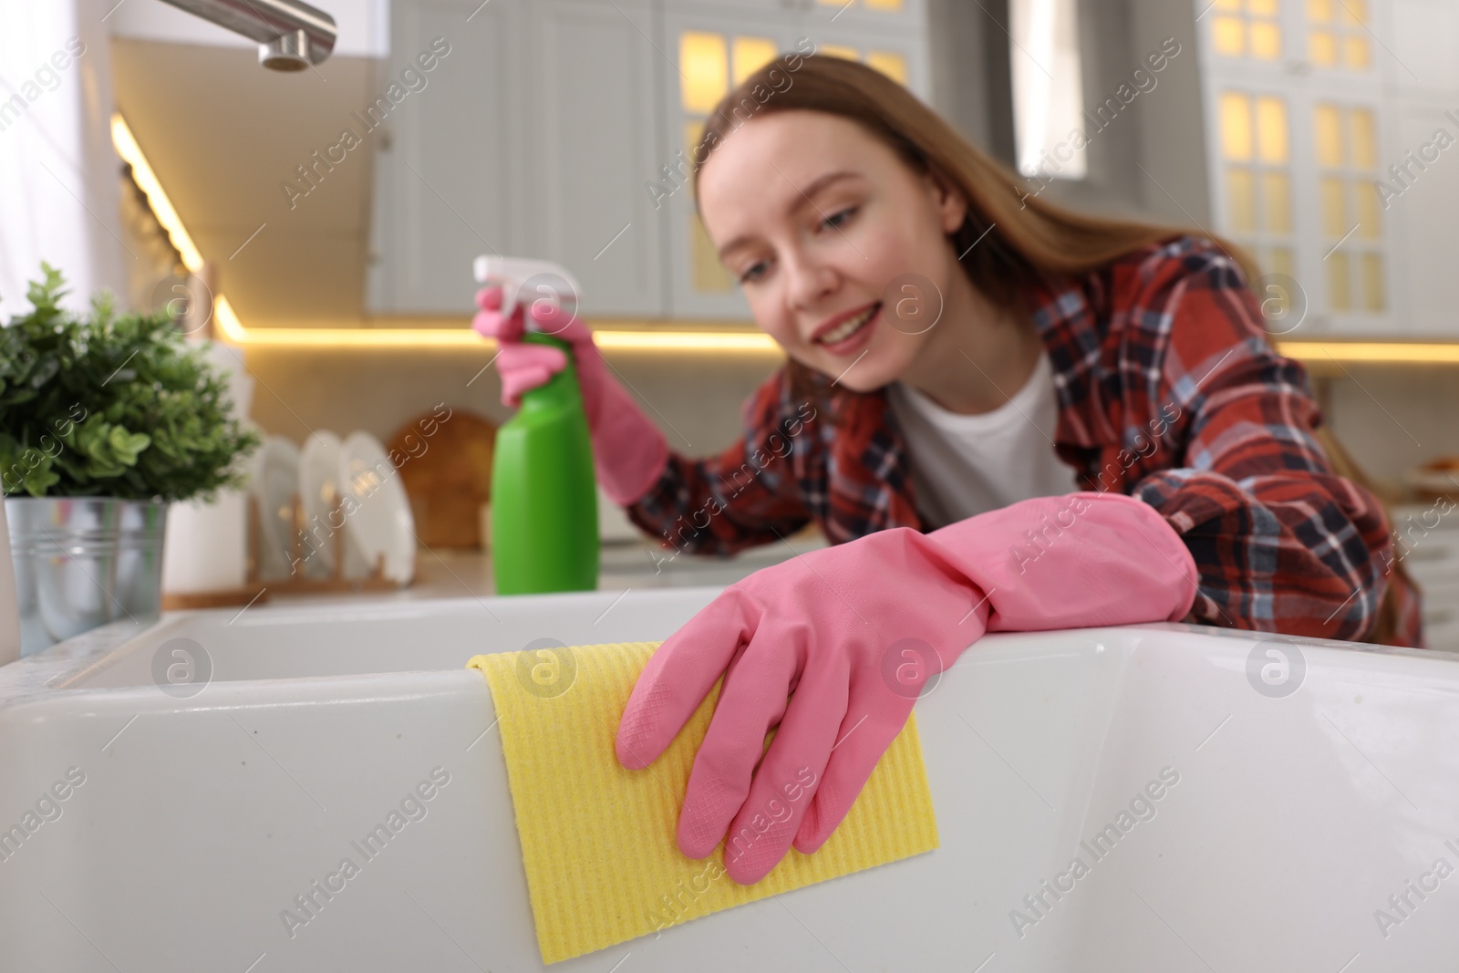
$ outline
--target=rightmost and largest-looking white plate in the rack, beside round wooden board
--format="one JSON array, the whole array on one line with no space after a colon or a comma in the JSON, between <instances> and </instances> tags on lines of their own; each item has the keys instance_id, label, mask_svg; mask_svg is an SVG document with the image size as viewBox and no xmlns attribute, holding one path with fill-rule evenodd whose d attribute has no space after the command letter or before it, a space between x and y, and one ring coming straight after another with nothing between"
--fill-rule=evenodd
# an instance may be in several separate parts
<instances>
[{"instance_id":1,"label":"rightmost and largest-looking white plate in the rack, beside round wooden board","mask_svg":"<svg viewBox=\"0 0 1459 973\"><path fill-rule=\"evenodd\" d=\"M349 511L346 550L366 570L385 557L385 576L407 585L416 573L416 521L400 471L368 432L352 432L340 449L340 493ZM350 503L353 500L353 503Z\"/></svg>"}]
</instances>

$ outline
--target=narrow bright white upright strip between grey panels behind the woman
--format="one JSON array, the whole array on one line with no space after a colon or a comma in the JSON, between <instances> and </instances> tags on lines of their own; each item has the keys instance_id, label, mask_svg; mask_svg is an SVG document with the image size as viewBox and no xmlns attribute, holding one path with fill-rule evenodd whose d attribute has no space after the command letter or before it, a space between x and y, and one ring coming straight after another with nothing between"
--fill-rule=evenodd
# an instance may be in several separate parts
<instances>
[{"instance_id":1,"label":"narrow bright white upright strip between grey panels behind the woman","mask_svg":"<svg viewBox=\"0 0 1459 973\"><path fill-rule=\"evenodd\" d=\"M1083 128L1084 86L1074 0L1010 0L1008 57L1013 64L1014 142L1018 172L1083 179L1084 149L1068 162L1050 150ZM1081 143L1083 144L1083 143Z\"/></svg>"}]
</instances>

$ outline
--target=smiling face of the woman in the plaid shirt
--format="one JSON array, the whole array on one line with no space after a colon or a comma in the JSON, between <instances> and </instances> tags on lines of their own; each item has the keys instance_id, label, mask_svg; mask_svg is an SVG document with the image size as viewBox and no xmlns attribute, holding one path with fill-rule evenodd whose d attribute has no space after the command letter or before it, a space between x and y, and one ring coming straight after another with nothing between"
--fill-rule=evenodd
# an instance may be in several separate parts
<instances>
[{"instance_id":1,"label":"smiling face of the woman in the plaid shirt","mask_svg":"<svg viewBox=\"0 0 1459 973\"><path fill-rule=\"evenodd\" d=\"M961 195L839 115L744 123L700 169L699 210L760 328L854 391L899 378L967 286L947 239Z\"/></svg>"}]
</instances>

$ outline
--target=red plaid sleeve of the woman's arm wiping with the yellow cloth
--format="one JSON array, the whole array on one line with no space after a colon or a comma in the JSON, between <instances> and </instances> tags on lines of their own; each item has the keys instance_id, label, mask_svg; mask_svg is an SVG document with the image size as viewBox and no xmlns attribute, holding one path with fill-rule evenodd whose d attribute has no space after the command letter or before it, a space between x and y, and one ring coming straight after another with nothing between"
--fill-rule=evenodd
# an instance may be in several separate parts
<instances>
[{"instance_id":1,"label":"red plaid sleeve of the woman's arm wiping with the yellow cloth","mask_svg":"<svg viewBox=\"0 0 1459 973\"><path fill-rule=\"evenodd\" d=\"M1266 340L1255 295L1211 247L1144 264L1129 327L1148 341L1148 394L1173 417L1174 465L1134 496L1182 535L1211 624L1364 639L1392 560L1388 519L1336 476L1313 429L1306 369ZM1411 632L1417 642L1418 633Z\"/></svg>"}]
</instances>

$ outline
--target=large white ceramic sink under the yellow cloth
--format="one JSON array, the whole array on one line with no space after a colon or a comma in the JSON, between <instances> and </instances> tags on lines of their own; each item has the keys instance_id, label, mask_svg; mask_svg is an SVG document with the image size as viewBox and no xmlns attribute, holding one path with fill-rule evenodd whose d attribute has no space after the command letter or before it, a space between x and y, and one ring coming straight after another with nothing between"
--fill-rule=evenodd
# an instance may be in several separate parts
<instances>
[{"instance_id":1,"label":"large white ceramic sink under the yellow cloth","mask_svg":"<svg viewBox=\"0 0 1459 973\"><path fill-rule=\"evenodd\" d=\"M716 591L177 614L0 667L0 829L66 792L16 848L0 837L0 970L544 969L465 661L658 640ZM159 651L187 664L174 639L212 661L194 696L153 678ZM1282 658L1287 683L1263 683ZM1459 868L1449 655L1193 626L998 635L916 712L940 849L552 969L1455 969L1459 874L1434 872ZM433 772L449 782L425 817L363 861L352 843ZM290 926L344 856L359 874Z\"/></svg>"}]
</instances>

